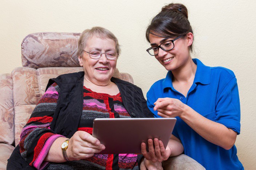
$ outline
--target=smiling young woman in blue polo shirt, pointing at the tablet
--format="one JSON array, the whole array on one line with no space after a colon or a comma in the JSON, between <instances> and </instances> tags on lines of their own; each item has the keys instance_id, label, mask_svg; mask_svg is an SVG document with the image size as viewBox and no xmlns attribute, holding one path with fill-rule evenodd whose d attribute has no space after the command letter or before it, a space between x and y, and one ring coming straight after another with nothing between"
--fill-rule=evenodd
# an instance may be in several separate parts
<instances>
[{"instance_id":1,"label":"smiling young woman in blue polo shirt, pointing at the tablet","mask_svg":"<svg viewBox=\"0 0 256 170\"><path fill-rule=\"evenodd\" d=\"M144 162L184 152L207 170L244 169L234 145L240 133L236 77L227 68L208 67L191 58L193 31L187 8L163 7L146 38L151 45L147 52L168 70L166 78L151 86L147 106L155 117L176 117L177 122L166 150L157 139L148 141L149 152L142 144Z\"/></svg>"}]
</instances>

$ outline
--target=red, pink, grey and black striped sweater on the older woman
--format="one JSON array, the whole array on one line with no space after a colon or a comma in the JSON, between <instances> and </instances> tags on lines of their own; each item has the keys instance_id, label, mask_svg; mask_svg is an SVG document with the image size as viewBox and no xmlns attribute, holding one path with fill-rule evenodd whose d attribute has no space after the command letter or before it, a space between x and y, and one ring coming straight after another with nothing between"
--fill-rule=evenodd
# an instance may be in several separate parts
<instances>
[{"instance_id":1,"label":"red, pink, grey and black striped sweater on the older woman","mask_svg":"<svg viewBox=\"0 0 256 170\"><path fill-rule=\"evenodd\" d=\"M95 118L130 118L121 94L96 93L84 86L83 111L77 131L92 134ZM45 162L44 158L58 137L50 129L60 88L54 83L42 96L20 136L20 153L36 169L138 169L136 154L95 154L85 160L64 163Z\"/></svg>"}]
</instances>

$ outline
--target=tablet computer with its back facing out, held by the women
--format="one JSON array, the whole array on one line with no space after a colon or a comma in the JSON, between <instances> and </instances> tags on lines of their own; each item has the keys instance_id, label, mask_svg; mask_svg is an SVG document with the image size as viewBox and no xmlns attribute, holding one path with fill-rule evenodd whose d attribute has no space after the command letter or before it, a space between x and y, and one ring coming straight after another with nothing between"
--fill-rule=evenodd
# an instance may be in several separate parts
<instances>
[{"instance_id":1,"label":"tablet computer with its back facing out, held by the women","mask_svg":"<svg viewBox=\"0 0 256 170\"><path fill-rule=\"evenodd\" d=\"M176 118L97 118L93 137L106 146L98 154L141 153L148 139L158 138L166 148L175 123Z\"/></svg>"}]
</instances>

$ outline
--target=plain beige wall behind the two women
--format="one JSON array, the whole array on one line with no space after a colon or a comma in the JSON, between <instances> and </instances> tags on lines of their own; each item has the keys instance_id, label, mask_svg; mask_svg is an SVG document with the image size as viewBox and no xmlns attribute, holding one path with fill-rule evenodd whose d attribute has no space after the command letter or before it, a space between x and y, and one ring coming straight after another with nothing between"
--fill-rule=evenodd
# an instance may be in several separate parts
<instances>
[{"instance_id":1,"label":"plain beige wall behind the two women","mask_svg":"<svg viewBox=\"0 0 256 170\"><path fill-rule=\"evenodd\" d=\"M146 94L166 70L146 53L145 30L168 0L0 0L0 73L21 66L23 38L36 32L82 32L92 26L111 30L122 45L121 72L134 77ZM194 29L195 54L204 64L235 72L241 102L238 157L256 169L256 2L253 0L175 1L184 3Z\"/></svg>"}]
</instances>

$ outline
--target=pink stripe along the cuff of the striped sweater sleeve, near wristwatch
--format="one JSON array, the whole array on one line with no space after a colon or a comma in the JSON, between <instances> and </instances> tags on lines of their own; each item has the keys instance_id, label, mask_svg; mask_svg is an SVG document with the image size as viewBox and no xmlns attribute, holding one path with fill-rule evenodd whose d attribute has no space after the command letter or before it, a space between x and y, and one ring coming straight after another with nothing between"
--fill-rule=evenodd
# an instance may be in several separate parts
<instances>
[{"instance_id":1,"label":"pink stripe along the cuff of the striped sweater sleeve, near wristwatch","mask_svg":"<svg viewBox=\"0 0 256 170\"><path fill-rule=\"evenodd\" d=\"M42 148L40 154L36 158L36 161L34 161L34 163L33 163L33 165L36 169L42 169L42 167L40 167L41 163L44 161L44 158L46 157L47 153L49 152L50 147L52 146L53 142L58 137L65 137L65 136L56 134L56 135L49 137L49 139L45 142L44 147ZM45 166L45 163L43 163L42 165Z\"/></svg>"}]
</instances>

